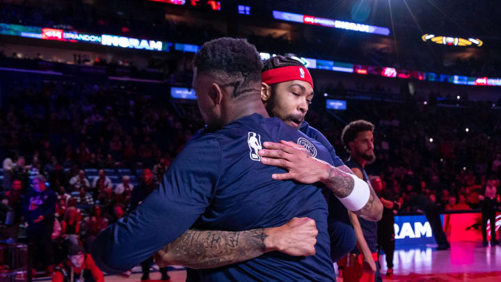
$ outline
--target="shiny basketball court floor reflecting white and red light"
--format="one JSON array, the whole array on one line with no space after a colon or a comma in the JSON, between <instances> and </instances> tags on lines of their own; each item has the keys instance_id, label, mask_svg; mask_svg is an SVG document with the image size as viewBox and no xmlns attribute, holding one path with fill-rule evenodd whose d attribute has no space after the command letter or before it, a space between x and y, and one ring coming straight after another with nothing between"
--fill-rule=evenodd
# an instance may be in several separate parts
<instances>
[{"instance_id":1,"label":"shiny basketball court floor reflecting white and red light","mask_svg":"<svg viewBox=\"0 0 501 282\"><path fill-rule=\"evenodd\" d=\"M500 282L501 246L482 246L474 242L455 242L447 251L436 251L436 245L424 245L395 251L394 274L386 276L385 258L381 256L381 274L388 282ZM156 268L156 266L154 266ZM106 276L105 281L141 280L141 267L134 269L129 278ZM184 282L186 272L182 268L169 271L170 281ZM160 279L159 272L150 278ZM159 280L157 280L159 281ZM342 281L339 277L337 281Z\"/></svg>"}]
</instances>

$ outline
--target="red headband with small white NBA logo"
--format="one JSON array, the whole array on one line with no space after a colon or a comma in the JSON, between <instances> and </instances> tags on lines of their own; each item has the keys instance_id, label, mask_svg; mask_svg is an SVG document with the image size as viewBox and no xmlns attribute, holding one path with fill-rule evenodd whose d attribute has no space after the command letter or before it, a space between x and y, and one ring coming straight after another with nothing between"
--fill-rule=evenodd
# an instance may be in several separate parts
<instances>
[{"instance_id":1,"label":"red headband with small white NBA logo","mask_svg":"<svg viewBox=\"0 0 501 282\"><path fill-rule=\"evenodd\" d=\"M305 67L289 66L274 68L261 73L261 80L265 84L279 84L280 82L291 80L302 80L308 82L313 87L313 79L310 72Z\"/></svg>"}]
</instances>

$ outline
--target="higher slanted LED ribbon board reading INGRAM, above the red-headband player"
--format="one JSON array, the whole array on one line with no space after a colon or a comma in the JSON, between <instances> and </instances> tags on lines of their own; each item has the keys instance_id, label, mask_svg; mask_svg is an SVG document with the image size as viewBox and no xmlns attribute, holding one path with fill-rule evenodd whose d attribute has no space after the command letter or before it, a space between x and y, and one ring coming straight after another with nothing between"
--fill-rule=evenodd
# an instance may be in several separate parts
<instances>
[{"instance_id":1,"label":"higher slanted LED ribbon board reading INGRAM, above the red-headband player","mask_svg":"<svg viewBox=\"0 0 501 282\"><path fill-rule=\"evenodd\" d=\"M356 24L354 22L343 22L337 19L324 19L323 17L313 17L294 13L273 10L273 18L281 19L287 22L299 22L301 24L312 24L315 26L327 26L334 29L347 29L349 31L360 31L366 33L380 34L388 36L390 29L381 26L371 26L368 24Z\"/></svg>"}]
</instances>

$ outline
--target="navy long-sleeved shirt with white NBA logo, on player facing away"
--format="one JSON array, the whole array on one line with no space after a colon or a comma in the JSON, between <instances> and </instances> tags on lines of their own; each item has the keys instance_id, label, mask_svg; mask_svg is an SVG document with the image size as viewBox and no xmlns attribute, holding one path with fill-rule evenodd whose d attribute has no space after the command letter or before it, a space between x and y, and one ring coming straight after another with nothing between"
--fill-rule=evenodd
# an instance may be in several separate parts
<instances>
[{"instance_id":1,"label":"navy long-sleeved shirt with white NBA logo, on player facing away","mask_svg":"<svg viewBox=\"0 0 501 282\"><path fill-rule=\"evenodd\" d=\"M332 164L328 150L278 118L253 114L186 144L164 184L97 235L91 253L105 272L120 273L149 258L189 228L249 230L281 226L293 217L315 219L315 256L271 252L243 263L190 269L188 281L333 281L327 204L316 185L273 180L284 169L260 162L264 141L294 141Z\"/></svg>"}]
</instances>

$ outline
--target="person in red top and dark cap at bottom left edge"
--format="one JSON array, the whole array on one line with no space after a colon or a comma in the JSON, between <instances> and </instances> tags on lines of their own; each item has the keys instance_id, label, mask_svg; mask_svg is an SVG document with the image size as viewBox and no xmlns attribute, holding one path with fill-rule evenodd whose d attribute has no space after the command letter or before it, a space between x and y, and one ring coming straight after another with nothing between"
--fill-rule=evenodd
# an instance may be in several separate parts
<instances>
[{"instance_id":1,"label":"person in red top and dark cap at bottom left edge","mask_svg":"<svg viewBox=\"0 0 501 282\"><path fill-rule=\"evenodd\" d=\"M72 245L67 260L54 269L52 282L104 282L104 274L83 246Z\"/></svg>"}]
</instances>

